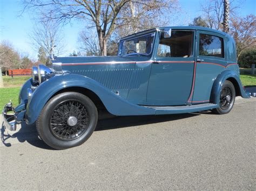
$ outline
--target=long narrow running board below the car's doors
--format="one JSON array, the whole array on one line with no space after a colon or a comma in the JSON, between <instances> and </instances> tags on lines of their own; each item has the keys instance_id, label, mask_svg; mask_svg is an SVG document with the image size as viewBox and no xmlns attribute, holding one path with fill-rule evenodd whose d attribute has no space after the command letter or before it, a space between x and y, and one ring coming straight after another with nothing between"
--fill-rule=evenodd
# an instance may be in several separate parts
<instances>
[{"instance_id":1,"label":"long narrow running board below the car's doors","mask_svg":"<svg viewBox=\"0 0 256 191\"><path fill-rule=\"evenodd\" d=\"M142 107L155 109L156 115L163 114L184 114L189 112L204 111L209 109L218 108L219 105L213 103L202 103L195 105L183 105L183 106L147 106L142 105Z\"/></svg>"}]
</instances>

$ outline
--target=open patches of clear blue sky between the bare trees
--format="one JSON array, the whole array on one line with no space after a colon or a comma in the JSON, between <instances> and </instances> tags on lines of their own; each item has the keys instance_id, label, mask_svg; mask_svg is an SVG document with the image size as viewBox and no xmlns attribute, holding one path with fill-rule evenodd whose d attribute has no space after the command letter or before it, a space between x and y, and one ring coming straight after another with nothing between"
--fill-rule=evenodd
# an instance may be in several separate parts
<instances>
[{"instance_id":1,"label":"open patches of clear blue sky between the bare trees","mask_svg":"<svg viewBox=\"0 0 256 191\"><path fill-rule=\"evenodd\" d=\"M205 1L205 0L203 0ZM237 0L240 2L240 0ZM180 0L181 10L177 15L171 17L171 25L187 25L194 17L200 16L200 0ZM241 16L248 14L256 15L256 0L243 0L239 13ZM28 38L28 33L32 29L32 13L25 12L19 16L23 6L20 0L0 0L0 41L8 40L16 50L23 54L29 54L30 58L37 59L35 51ZM85 23L74 21L72 25L64 27L65 55L69 55L74 50L79 49L78 33L84 28Z\"/></svg>"}]
</instances>

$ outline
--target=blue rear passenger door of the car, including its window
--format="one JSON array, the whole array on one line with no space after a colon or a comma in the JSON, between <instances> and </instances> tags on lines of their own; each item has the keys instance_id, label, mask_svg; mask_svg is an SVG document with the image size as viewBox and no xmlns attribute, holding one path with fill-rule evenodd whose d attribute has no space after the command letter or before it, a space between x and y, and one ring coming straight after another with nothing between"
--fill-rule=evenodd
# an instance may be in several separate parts
<instances>
[{"instance_id":1,"label":"blue rear passenger door of the car, including its window","mask_svg":"<svg viewBox=\"0 0 256 191\"><path fill-rule=\"evenodd\" d=\"M211 31L197 31L197 62L193 104L210 102L214 79L226 67L225 36Z\"/></svg>"}]
</instances>

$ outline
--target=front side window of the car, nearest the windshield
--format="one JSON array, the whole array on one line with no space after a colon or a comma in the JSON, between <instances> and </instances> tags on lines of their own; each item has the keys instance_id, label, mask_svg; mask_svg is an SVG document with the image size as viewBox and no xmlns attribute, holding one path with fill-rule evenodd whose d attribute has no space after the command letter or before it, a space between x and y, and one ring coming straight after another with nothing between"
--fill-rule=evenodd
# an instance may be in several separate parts
<instances>
[{"instance_id":1,"label":"front side window of the car, nearest the windshield","mask_svg":"<svg viewBox=\"0 0 256 191\"><path fill-rule=\"evenodd\" d=\"M161 33L157 49L158 57L183 57L192 55L193 31L172 30L170 38L164 38Z\"/></svg>"}]
</instances>

